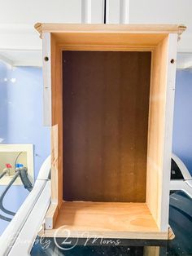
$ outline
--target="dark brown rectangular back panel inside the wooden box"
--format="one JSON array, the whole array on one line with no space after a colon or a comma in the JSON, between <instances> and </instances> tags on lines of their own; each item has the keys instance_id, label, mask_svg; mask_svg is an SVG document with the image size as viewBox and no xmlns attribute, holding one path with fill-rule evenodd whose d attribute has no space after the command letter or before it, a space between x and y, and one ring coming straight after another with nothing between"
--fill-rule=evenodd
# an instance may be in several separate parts
<instances>
[{"instance_id":1,"label":"dark brown rectangular back panel inside the wooden box","mask_svg":"<svg viewBox=\"0 0 192 256\"><path fill-rule=\"evenodd\" d=\"M146 201L150 72L151 52L63 52L63 200Z\"/></svg>"}]
</instances>

